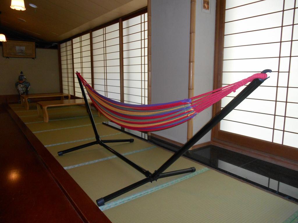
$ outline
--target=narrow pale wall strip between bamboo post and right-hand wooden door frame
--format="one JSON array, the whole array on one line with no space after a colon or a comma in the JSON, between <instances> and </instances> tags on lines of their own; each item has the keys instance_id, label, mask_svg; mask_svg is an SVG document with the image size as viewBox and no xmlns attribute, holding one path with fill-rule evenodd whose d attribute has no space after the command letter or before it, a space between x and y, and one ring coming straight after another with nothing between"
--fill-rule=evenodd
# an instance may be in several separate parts
<instances>
[{"instance_id":1,"label":"narrow pale wall strip between bamboo post and right-hand wooden door frame","mask_svg":"<svg viewBox=\"0 0 298 223\"><path fill-rule=\"evenodd\" d=\"M210 0L210 14L202 12L202 1L197 0L195 21L195 92L194 95L213 89L215 0ZM212 106L198 114L193 121L193 134L212 117ZM211 131L198 143L208 142Z\"/></svg>"}]
</instances>

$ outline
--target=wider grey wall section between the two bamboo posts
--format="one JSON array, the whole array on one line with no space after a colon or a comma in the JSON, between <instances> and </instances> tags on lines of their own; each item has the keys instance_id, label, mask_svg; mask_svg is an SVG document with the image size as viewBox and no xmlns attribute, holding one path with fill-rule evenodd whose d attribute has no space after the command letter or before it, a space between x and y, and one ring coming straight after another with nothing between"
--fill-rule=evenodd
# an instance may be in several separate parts
<instances>
[{"instance_id":1,"label":"wider grey wall section between the two bamboo posts","mask_svg":"<svg viewBox=\"0 0 298 223\"><path fill-rule=\"evenodd\" d=\"M187 98L190 0L152 0L152 103ZM187 123L155 132L186 141Z\"/></svg>"}]
</instances>

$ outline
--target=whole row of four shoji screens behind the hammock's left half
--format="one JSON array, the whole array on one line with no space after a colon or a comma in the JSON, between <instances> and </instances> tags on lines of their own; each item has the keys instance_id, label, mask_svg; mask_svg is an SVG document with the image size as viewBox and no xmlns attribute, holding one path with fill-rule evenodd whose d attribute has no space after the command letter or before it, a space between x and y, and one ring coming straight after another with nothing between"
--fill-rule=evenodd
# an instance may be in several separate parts
<instances>
[{"instance_id":1,"label":"whole row of four shoji screens behind the hammock's left half","mask_svg":"<svg viewBox=\"0 0 298 223\"><path fill-rule=\"evenodd\" d=\"M147 23L142 10L60 44L63 91L82 97L78 71L108 98L147 104Z\"/></svg>"}]
</instances>

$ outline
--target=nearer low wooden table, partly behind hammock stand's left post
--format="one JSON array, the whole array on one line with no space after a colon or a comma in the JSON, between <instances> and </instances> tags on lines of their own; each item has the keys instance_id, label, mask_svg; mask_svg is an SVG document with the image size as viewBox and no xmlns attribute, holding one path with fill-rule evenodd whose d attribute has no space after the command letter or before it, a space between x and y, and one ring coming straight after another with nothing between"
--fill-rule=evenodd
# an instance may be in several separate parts
<instances>
[{"instance_id":1,"label":"nearer low wooden table, partly behind hammock stand's left post","mask_svg":"<svg viewBox=\"0 0 298 223\"><path fill-rule=\"evenodd\" d=\"M87 99L88 103L91 104L92 101L90 99ZM53 106L69 106L69 105L83 105L85 104L84 99L70 99L70 100L54 100L54 101L39 101L37 102L37 115L38 117L41 117L43 114L44 116L44 122L49 122L49 114L47 111L48 107ZM41 113L42 110L42 113ZM87 110L88 112L88 110ZM100 112L97 112L98 116L100 116Z\"/></svg>"}]
</instances>

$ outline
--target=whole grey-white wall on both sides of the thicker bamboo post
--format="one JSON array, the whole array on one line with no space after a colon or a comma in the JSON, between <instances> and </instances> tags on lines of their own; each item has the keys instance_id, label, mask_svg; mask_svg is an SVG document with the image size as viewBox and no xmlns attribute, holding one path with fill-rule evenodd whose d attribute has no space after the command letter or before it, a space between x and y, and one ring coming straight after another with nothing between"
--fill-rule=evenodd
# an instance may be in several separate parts
<instances>
[{"instance_id":1,"label":"whole grey-white wall on both sides of the thicker bamboo post","mask_svg":"<svg viewBox=\"0 0 298 223\"><path fill-rule=\"evenodd\" d=\"M215 0L211 13L196 3L195 95L212 90L215 31ZM188 97L190 0L151 0L152 103ZM194 120L194 133L211 118L211 109ZM155 132L177 142L187 140L187 123ZM210 140L210 133L198 143Z\"/></svg>"}]
</instances>

